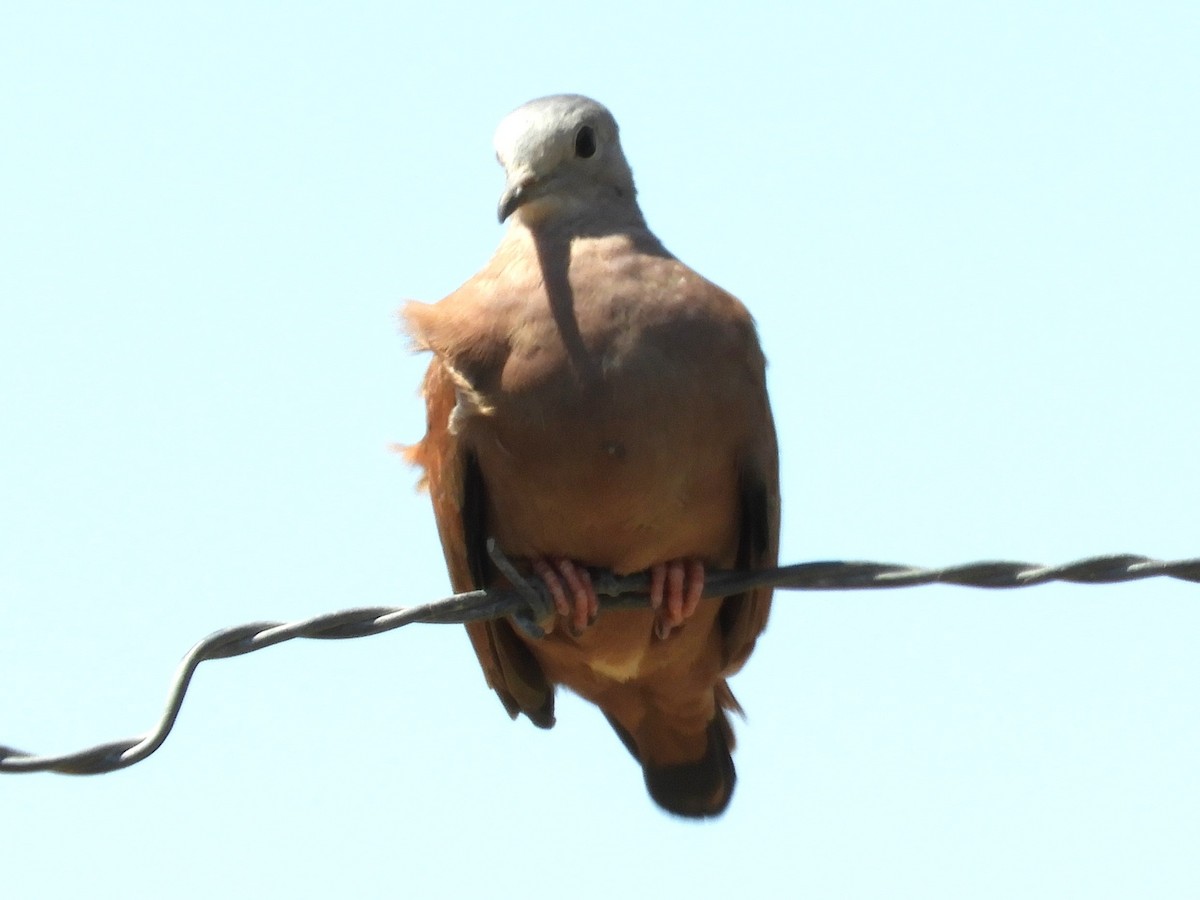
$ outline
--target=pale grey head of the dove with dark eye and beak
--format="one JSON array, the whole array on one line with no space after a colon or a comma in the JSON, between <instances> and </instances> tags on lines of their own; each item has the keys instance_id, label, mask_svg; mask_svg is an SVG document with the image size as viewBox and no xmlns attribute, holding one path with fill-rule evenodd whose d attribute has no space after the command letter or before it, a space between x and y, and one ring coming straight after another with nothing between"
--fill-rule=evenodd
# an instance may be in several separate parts
<instances>
[{"instance_id":1,"label":"pale grey head of the dove with dark eye and beak","mask_svg":"<svg viewBox=\"0 0 1200 900\"><path fill-rule=\"evenodd\" d=\"M594 100L577 94L532 100L504 116L494 144L505 174L502 222L517 210L532 223L600 204L636 209L617 121Z\"/></svg>"}]
</instances>

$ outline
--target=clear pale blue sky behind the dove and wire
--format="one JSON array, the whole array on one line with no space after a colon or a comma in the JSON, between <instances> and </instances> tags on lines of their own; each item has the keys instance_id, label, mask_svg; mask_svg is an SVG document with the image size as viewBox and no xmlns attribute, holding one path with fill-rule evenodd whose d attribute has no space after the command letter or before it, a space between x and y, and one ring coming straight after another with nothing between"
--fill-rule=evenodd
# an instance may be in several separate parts
<instances>
[{"instance_id":1,"label":"clear pale blue sky behind the dove and wire","mask_svg":"<svg viewBox=\"0 0 1200 900\"><path fill-rule=\"evenodd\" d=\"M487 259L553 92L757 318L784 560L1200 556L1198 47L1188 1L5 2L0 744L449 592L395 311ZM781 594L733 688L696 824L458 628L208 662L148 761L0 775L4 893L1200 895L1200 586Z\"/></svg>"}]
</instances>

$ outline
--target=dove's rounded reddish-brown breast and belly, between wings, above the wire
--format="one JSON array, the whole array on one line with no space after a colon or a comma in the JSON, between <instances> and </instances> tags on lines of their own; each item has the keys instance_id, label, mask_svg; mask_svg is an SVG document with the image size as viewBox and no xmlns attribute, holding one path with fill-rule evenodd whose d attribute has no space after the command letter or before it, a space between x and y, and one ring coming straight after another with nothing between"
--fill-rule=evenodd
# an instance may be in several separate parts
<instances>
[{"instance_id":1,"label":"dove's rounded reddish-brown breast and belly, between wings, above the wire","mask_svg":"<svg viewBox=\"0 0 1200 900\"><path fill-rule=\"evenodd\" d=\"M617 571L732 563L746 397L764 396L744 307L628 236L575 241L566 277L552 269L504 268L503 352L454 360L500 547Z\"/></svg>"}]
</instances>

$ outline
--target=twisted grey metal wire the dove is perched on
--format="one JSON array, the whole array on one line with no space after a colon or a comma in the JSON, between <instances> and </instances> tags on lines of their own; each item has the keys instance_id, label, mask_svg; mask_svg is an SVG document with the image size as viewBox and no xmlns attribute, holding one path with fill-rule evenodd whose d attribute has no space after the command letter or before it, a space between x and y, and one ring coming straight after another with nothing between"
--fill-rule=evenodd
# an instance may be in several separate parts
<instances>
[{"instance_id":1,"label":"twisted grey metal wire the dove is perched on","mask_svg":"<svg viewBox=\"0 0 1200 900\"><path fill-rule=\"evenodd\" d=\"M816 562L752 572L714 571L704 580L704 596L728 596L756 587L787 590L869 590L920 584L958 584L973 588L1024 588L1048 582L1074 584L1116 584L1142 578L1177 578L1200 583L1200 558L1163 562L1148 557L1120 554L1082 559L1066 565L984 562L946 569L919 569L887 563ZM616 576L593 574L602 610L635 608L649 605L649 577L644 574ZM464 624L508 616L523 628L545 616L550 599L540 581L520 588L492 588L455 594L420 606L362 606L300 622L252 622L216 631L192 647L175 670L167 707L154 728L145 734L98 744L59 756L37 756L0 745L0 773L58 772L65 775L97 775L142 762L162 746L175 725L184 695L196 667L205 660L228 659L254 653L299 637L347 640L380 635L415 622Z\"/></svg>"}]
</instances>

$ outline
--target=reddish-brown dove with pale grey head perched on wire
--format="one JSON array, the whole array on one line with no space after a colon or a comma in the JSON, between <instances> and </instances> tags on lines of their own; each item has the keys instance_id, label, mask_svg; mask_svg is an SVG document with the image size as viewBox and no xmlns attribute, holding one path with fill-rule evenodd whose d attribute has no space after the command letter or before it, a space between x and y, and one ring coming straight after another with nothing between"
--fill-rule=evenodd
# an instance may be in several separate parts
<instances>
[{"instance_id":1,"label":"reddish-brown dove with pale grey head perched on wire","mask_svg":"<svg viewBox=\"0 0 1200 900\"><path fill-rule=\"evenodd\" d=\"M553 726L563 685L600 708L659 806L719 816L742 713L727 679L772 592L702 599L706 571L770 568L779 551L755 322L649 230L599 102L533 100L494 149L499 247L444 299L401 310L432 354L426 433L404 452L455 590L540 580L552 599L533 626L467 625L509 715ZM649 572L649 605L601 613L594 570Z\"/></svg>"}]
</instances>

